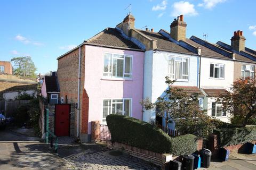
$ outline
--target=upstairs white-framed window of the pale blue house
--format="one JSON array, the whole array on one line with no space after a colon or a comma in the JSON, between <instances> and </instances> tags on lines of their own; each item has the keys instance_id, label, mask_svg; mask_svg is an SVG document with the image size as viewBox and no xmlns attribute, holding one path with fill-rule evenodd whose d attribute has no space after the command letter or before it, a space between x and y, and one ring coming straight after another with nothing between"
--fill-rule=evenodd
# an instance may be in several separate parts
<instances>
[{"instance_id":1,"label":"upstairs white-framed window of the pale blue house","mask_svg":"<svg viewBox=\"0 0 256 170\"><path fill-rule=\"evenodd\" d=\"M188 58L169 56L168 76L176 80L188 80Z\"/></svg>"}]
</instances>

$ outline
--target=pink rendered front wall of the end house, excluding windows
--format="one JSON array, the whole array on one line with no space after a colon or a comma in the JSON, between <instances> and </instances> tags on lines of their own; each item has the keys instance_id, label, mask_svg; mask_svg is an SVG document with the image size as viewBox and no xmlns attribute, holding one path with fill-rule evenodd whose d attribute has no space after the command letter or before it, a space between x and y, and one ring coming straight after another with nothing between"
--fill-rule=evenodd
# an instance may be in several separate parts
<instances>
[{"instance_id":1,"label":"pink rendered front wall of the end house, excluding windows","mask_svg":"<svg viewBox=\"0 0 256 170\"><path fill-rule=\"evenodd\" d=\"M105 52L132 55L132 80L103 80ZM142 120L140 100L143 91L144 53L131 50L85 46L84 88L89 96L89 134L91 121L102 123L103 99L132 98L131 116Z\"/></svg>"}]
</instances>

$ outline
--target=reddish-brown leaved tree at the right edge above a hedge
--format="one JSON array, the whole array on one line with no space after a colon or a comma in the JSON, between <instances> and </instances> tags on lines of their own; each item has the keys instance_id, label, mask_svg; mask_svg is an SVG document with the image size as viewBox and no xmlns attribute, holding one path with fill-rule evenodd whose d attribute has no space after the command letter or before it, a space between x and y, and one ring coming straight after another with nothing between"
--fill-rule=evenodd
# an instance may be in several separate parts
<instances>
[{"instance_id":1,"label":"reddish-brown leaved tree at the right edge above a hedge","mask_svg":"<svg viewBox=\"0 0 256 170\"><path fill-rule=\"evenodd\" d=\"M241 117L245 126L256 116L256 80L247 77L234 81L230 91L220 95L217 102L234 117Z\"/></svg>"}]
</instances>

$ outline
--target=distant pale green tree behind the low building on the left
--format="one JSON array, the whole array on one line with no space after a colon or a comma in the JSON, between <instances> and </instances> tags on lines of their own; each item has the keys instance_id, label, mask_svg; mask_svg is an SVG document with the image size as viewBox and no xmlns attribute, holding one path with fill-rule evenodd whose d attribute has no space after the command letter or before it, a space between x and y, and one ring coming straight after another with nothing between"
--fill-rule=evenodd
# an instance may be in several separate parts
<instances>
[{"instance_id":1,"label":"distant pale green tree behind the low building on the left","mask_svg":"<svg viewBox=\"0 0 256 170\"><path fill-rule=\"evenodd\" d=\"M14 57L11 62L14 63L14 74L24 78L34 78L36 67L30 56Z\"/></svg>"}]
</instances>

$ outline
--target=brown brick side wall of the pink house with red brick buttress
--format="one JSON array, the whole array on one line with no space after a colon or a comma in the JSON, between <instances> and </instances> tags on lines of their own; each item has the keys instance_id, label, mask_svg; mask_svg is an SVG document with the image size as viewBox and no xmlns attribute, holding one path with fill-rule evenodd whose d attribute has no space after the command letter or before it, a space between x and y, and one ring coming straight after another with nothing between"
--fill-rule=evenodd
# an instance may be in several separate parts
<instances>
[{"instance_id":1,"label":"brown brick side wall of the pink house with red brick buttress","mask_svg":"<svg viewBox=\"0 0 256 170\"><path fill-rule=\"evenodd\" d=\"M79 130L77 129L77 112L75 111L75 134L77 130L79 135L87 134L85 124L86 116L83 117L83 92L84 92L84 71L85 71L85 45L81 46L81 83L80 83L80 116L79 116ZM77 103L77 90L78 90L78 65L79 65L79 48L73 50L72 52L66 54L65 56L59 58L58 60L58 82L60 87L60 97L63 97L66 100L68 97L68 103L75 104ZM66 101L65 101L66 102ZM85 106L86 107L86 106ZM84 120L83 120L84 118ZM82 130L83 129L83 130Z\"/></svg>"}]
</instances>

